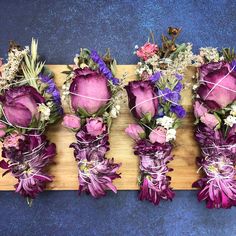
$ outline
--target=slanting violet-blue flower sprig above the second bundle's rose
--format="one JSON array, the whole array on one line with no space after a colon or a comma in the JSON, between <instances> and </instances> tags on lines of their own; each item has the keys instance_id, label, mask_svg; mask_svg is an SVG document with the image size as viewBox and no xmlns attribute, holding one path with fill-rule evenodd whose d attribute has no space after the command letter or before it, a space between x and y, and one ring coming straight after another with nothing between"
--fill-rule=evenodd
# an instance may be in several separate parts
<instances>
[{"instance_id":1,"label":"slanting violet-blue flower sprig above the second bundle's rose","mask_svg":"<svg viewBox=\"0 0 236 236\"><path fill-rule=\"evenodd\" d=\"M118 85L119 79L113 77L112 72L106 66L106 63L102 60L102 58L98 55L97 51L92 50L90 56L92 60L98 64L101 73L103 73L108 80L112 81L114 85Z\"/></svg>"}]
</instances>

